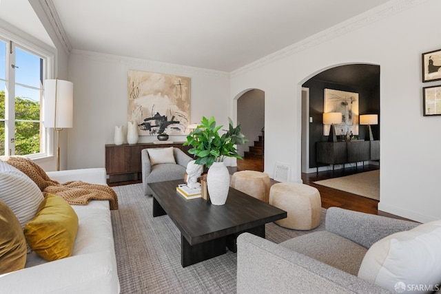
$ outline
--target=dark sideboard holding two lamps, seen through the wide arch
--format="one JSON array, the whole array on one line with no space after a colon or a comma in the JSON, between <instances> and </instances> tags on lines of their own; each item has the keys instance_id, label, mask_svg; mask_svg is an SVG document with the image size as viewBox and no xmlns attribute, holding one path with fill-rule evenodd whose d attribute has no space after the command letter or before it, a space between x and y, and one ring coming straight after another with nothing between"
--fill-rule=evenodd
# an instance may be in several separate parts
<instances>
[{"instance_id":1,"label":"dark sideboard holding two lamps, seen through the wide arch","mask_svg":"<svg viewBox=\"0 0 441 294\"><path fill-rule=\"evenodd\" d=\"M380 159L380 141L342 141L342 142L318 142L317 163L327 165L343 165L345 163L360 162ZM318 169L318 166L317 166ZM334 167L333 167L334 169Z\"/></svg>"}]
</instances>

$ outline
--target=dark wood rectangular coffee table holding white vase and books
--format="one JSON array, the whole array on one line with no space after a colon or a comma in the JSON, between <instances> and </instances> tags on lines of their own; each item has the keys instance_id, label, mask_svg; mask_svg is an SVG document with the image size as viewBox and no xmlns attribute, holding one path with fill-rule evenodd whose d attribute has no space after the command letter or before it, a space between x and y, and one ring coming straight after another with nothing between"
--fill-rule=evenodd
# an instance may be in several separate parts
<instances>
[{"instance_id":1,"label":"dark wood rectangular coffee table holding white vase and books","mask_svg":"<svg viewBox=\"0 0 441 294\"><path fill-rule=\"evenodd\" d=\"M153 191L153 216L167 214L181 231L183 267L236 252L236 238L249 232L265 238L265 224L287 217L287 212L229 188L227 203L212 205L202 198L185 200L176 192L183 180L148 184Z\"/></svg>"}]
</instances>

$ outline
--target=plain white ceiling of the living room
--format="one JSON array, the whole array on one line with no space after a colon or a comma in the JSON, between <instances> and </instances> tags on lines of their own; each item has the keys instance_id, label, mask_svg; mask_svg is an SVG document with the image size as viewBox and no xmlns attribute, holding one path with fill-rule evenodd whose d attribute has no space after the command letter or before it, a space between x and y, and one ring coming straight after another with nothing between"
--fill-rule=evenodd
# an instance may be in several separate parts
<instances>
[{"instance_id":1,"label":"plain white ceiling of the living room","mask_svg":"<svg viewBox=\"0 0 441 294\"><path fill-rule=\"evenodd\" d=\"M388 1L52 2L76 50L232 72ZM32 12L27 0L0 0L0 19L50 43Z\"/></svg>"}]
</instances>

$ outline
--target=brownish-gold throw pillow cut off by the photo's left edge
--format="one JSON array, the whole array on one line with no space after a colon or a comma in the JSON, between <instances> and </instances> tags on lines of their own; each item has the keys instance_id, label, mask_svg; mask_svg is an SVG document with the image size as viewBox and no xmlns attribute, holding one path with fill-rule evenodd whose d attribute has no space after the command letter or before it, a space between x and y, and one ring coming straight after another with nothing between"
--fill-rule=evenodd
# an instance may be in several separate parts
<instances>
[{"instance_id":1,"label":"brownish-gold throw pillow cut off by the photo's left edge","mask_svg":"<svg viewBox=\"0 0 441 294\"><path fill-rule=\"evenodd\" d=\"M17 216L0 200L0 275L24 269L26 240Z\"/></svg>"}]
</instances>

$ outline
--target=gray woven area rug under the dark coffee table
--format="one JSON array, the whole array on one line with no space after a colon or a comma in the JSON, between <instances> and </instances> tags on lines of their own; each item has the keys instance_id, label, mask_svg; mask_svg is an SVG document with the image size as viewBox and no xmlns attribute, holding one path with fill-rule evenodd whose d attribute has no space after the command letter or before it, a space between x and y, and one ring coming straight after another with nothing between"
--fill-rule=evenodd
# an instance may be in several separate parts
<instances>
[{"instance_id":1,"label":"gray woven area rug under the dark coffee table","mask_svg":"<svg viewBox=\"0 0 441 294\"><path fill-rule=\"evenodd\" d=\"M152 217L152 197L141 184L113 187L119 209L111 211L121 293L236 293L236 253L227 253L192 266L181 266L181 233L168 216ZM325 229L326 210L320 226ZM310 233L265 227L276 243Z\"/></svg>"}]
</instances>

